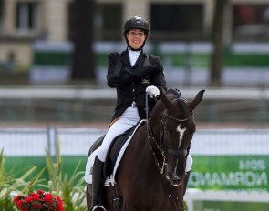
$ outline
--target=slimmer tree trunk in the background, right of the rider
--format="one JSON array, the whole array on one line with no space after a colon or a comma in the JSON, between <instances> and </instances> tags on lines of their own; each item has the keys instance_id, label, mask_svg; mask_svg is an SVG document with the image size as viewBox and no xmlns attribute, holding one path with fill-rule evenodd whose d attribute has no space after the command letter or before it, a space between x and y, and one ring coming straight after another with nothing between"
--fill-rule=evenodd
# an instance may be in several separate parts
<instances>
[{"instance_id":1,"label":"slimmer tree trunk in the background, right of the rider","mask_svg":"<svg viewBox=\"0 0 269 211\"><path fill-rule=\"evenodd\" d=\"M211 85L221 85L224 11L229 0L216 0L212 23Z\"/></svg>"}]
</instances>

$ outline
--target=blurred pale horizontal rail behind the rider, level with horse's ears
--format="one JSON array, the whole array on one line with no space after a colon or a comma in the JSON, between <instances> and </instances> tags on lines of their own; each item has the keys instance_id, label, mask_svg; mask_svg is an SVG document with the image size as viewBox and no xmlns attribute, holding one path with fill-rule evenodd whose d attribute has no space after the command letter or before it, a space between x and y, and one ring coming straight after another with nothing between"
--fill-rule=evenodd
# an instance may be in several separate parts
<instances>
[{"instance_id":1,"label":"blurred pale horizontal rail behind the rider, level with horse's ears","mask_svg":"<svg viewBox=\"0 0 269 211\"><path fill-rule=\"evenodd\" d=\"M269 88L181 87L186 98L193 98L205 89L204 99L268 100ZM0 99L115 99L116 91L109 88L15 87L0 88Z\"/></svg>"}]
</instances>

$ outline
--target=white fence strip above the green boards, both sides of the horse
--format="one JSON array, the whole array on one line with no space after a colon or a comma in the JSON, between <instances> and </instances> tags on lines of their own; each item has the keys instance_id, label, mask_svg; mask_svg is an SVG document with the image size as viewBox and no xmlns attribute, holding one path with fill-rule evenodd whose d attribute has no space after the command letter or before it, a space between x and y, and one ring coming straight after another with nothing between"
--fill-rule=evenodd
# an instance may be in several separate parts
<instances>
[{"instance_id":1,"label":"white fence strip above the green boards, both sides of the horse","mask_svg":"<svg viewBox=\"0 0 269 211\"><path fill-rule=\"evenodd\" d=\"M66 156L88 155L88 148L106 129L96 128L0 128L0 148L6 156L53 155L57 140ZM191 155L269 155L269 129L198 130Z\"/></svg>"}]
</instances>

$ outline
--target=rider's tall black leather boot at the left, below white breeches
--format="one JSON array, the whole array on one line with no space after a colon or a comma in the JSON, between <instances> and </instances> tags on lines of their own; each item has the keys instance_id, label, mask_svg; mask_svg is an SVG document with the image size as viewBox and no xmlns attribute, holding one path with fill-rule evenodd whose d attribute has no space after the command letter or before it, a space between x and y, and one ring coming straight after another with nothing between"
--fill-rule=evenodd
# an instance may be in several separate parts
<instances>
[{"instance_id":1,"label":"rider's tall black leather boot at the left, below white breeches","mask_svg":"<svg viewBox=\"0 0 269 211\"><path fill-rule=\"evenodd\" d=\"M104 176L103 176L103 167L104 162L98 159L96 156L93 165L93 173L92 173L92 207L90 211L104 211L106 210L102 205L102 187L104 184Z\"/></svg>"}]
</instances>

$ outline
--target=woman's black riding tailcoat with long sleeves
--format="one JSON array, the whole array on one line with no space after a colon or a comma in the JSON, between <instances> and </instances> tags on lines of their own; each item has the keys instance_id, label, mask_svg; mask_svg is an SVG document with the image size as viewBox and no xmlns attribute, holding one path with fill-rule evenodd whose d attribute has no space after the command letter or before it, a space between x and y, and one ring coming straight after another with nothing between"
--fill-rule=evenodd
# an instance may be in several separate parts
<instances>
[{"instance_id":1,"label":"woman's black riding tailcoat with long sleeves","mask_svg":"<svg viewBox=\"0 0 269 211\"><path fill-rule=\"evenodd\" d=\"M122 65L119 74L116 74L117 70L115 70L115 67L119 56ZM117 105L112 121L121 116L126 108L131 106L132 102L136 103L140 118L146 118L146 88L150 85L155 85L158 88L167 89L160 57L148 55L150 62L148 68L144 66L146 56L147 55L141 51L136 64L131 67L128 50L123 51L121 54L118 52L109 54L107 84L109 87L116 88L117 90ZM129 71L136 71L136 74L129 74L131 72L128 72L127 68L129 68ZM149 114L155 104L155 100L149 98Z\"/></svg>"}]
</instances>

